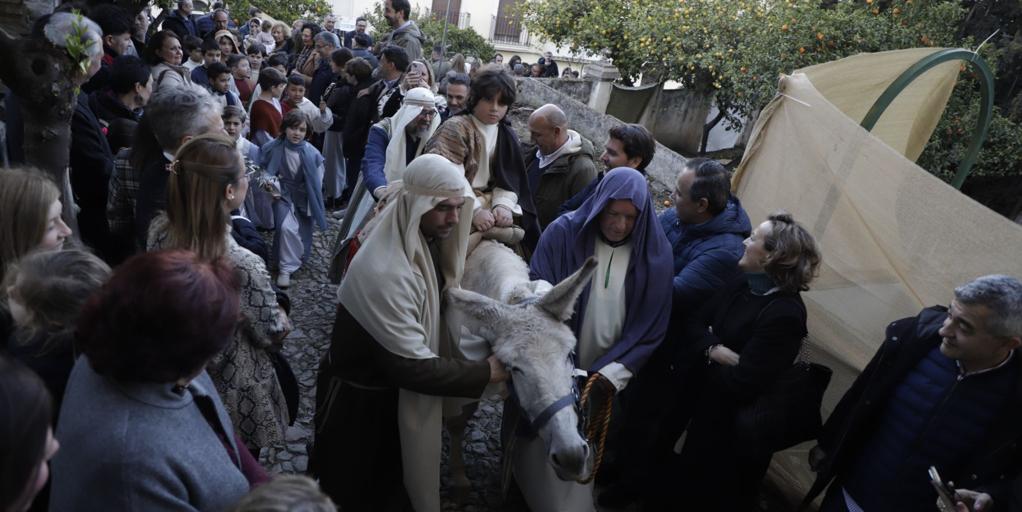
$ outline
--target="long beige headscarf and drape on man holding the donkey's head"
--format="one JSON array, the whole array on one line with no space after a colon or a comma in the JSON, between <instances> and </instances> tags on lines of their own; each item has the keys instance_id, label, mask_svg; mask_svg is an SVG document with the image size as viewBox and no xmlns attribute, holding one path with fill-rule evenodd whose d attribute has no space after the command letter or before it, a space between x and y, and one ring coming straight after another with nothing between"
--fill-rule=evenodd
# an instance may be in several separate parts
<instances>
[{"instance_id":1,"label":"long beige headscarf and drape on man holding the donkey's head","mask_svg":"<svg viewBox=\"0 0 1022 512\"><path fill-rule=\"evenodd\" d=\"M465 198L458 227L439 243L445 284L459 286L474 194L461 169L436 154L413 160L401 187L352 261L337 295L390 353L408 359L435 358L450 353L460 327L440 316L442 290L419 221L446 199ZM419 512L440 510L442 421L442 398L401 389L398 428L405 488Z\"/></svg>"}]
</instances>

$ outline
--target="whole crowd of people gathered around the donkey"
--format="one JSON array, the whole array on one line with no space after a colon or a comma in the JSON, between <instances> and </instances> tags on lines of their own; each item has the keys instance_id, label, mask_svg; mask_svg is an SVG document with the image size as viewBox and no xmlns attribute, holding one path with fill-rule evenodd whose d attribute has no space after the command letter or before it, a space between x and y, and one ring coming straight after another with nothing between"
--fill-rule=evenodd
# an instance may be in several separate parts
<instances>
[{"instance_id":1,"label":"whole crowd of people gathered around the donkey","mask_svg":"<svg viewBox=\"0 0 1022 512\"><path fill-rule=\"evenodd\" d=\"M755 510L778 447L739 416L799 361L809 231L783 211L754 224L707 158L675 170L658 213L640 125L601 151L547 104L519 140L514 77L558 77L549 52L427 60L408 0L384 6L378 41L361 18L236 22L191 0L148 38L144 16L86 12L103 53L75 104L74 197L17 151L0 170L0 509L439 511L442 399L520 375L462 354L445 301L489 239L551 285L595 258L560 320L570 363L619 406L596 493L544 469L549 447L507 398L529 507ZM287 290L316 230L338 242L340 285L315 480L272 478L261 454L300 399ZM888 326L819 435L806 503L932 510L934 466L959 510L1020 506L1022 282L948 298Z\"/></svg>"}]
</instances>

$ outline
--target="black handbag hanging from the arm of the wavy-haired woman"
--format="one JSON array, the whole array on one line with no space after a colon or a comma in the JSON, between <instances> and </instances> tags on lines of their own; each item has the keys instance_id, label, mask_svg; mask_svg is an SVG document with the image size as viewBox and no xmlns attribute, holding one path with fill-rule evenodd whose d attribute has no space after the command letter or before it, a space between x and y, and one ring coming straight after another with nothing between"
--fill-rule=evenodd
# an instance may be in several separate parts
<instances>
[{"instance_id":1,"label":"black handbag hanging from the arm of the wavy-haired woman","mask_svg":"<svg viewBox=\"0 0 1022 512\"><path fill-rule=\"evenodd\" d=\"M824 365L796 362L755 402L738 409L736 441L748 450L774 453L816 438L823 426L820 406L832 373Z\"/></svg>"}]
</instances>

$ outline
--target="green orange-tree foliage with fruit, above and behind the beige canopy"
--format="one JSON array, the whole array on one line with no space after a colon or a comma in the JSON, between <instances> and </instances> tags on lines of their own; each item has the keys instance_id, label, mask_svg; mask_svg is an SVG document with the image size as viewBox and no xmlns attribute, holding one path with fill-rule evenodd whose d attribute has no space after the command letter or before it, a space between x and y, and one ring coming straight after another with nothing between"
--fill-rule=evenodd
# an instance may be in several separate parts
<instances>
[{"instance_id":1,"label":"green orange-tree foliage with fruit, above and behind the beige canopy","mask_svg":"<svg viewBox=\"0 0 1022 512\"><path fill-rule=\"evenodd\" d=\"M528 30L572 51L605 52L630 81L641 75L709 93L726 122L774 97L780 74L862 52L921 46L975 47L961 39L960 0L531 0ZM984 51L991 65L996 55ZM954 175L975 127L979 94L953 101L920 165ZM961 132L960 132L961 130ZM974 174L1022 172L1022 127L995 112Z\"/></svg>"}]
</instances>

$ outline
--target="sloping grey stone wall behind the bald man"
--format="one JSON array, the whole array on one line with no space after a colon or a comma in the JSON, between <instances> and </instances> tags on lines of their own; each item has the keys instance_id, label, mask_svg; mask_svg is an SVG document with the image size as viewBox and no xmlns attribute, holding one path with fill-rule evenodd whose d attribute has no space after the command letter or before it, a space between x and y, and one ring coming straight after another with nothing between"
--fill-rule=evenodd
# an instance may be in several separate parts
<instances>
[{"instance_id":1,"label":"sloping grey stone wall behind the bald man","mask_svg":"<svg viewBox=\"0 0 1022 512\"><path fill-rule=\"evenodd\" d=\"M520 126L521 118L527 119L531 110L544 104L553 103L564 110L568 118L568 127L591 140L596 146L597 152L602 153L600 148L607 143L607 131L623 123L612 115L594 111L586 103L550 87L544 82L542 79L517 79L518 99L516 106L518 110L514 118L519 121L516 124ZM527 131L525 131L525 135L523 141L528 140ZM686 159L667 146L659 142L656 144L656 154L653 156L653 161L646 168L646 174L650 178L654 192L662 194L673 188L675 180L678 173L685 167Z\"/></svg>"}]
</instances>

